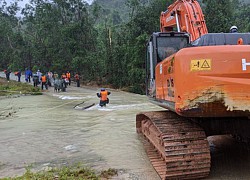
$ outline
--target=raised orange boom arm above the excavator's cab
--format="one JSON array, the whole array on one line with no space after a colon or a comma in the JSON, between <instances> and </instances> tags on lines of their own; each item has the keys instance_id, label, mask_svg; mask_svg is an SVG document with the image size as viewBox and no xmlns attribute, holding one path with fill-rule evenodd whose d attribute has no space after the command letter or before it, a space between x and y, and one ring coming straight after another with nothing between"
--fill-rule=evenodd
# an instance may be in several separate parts
<instances>
[{"instance_id":1,"label":"raised orange boom arm above the excavator's cab","mask_svg":"<svg viewBox=\"0 0 250 180\"><path fill-rule=\"evenodd\" d=\"M196 0L177 0L161 13L161 32L188 32L191 41L207 34L204 15Z\"/></svg>"}]
</instances>

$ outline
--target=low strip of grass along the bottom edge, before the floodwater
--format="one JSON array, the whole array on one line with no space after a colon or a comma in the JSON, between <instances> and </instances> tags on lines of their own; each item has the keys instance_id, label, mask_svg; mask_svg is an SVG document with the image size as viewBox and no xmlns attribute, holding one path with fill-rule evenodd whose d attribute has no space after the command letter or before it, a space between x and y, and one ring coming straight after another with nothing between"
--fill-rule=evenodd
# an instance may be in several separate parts
<instances>
[{"instance_id":1,"label":"low strip of grass along the bottom edge, before the floodwater","mask_svg":"<svg viewBox=\"0 0 250 180\"><path fill-rule=\"evenodd\" d=\"M35 179L43 179L43 180L99 180L99 179L109 179L112 176L117 175L117 170L108 169L97 173L89 168L81 167L78 165L77 167L62 167L62 168L52 168L49 171L42 172L31 172L30 169L26 169L24 175L15 177L15 178L3 178L1 180L35 180Z\"/></svg>"}]
</instances>

